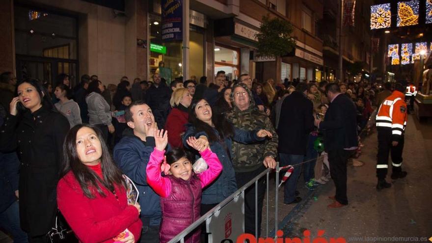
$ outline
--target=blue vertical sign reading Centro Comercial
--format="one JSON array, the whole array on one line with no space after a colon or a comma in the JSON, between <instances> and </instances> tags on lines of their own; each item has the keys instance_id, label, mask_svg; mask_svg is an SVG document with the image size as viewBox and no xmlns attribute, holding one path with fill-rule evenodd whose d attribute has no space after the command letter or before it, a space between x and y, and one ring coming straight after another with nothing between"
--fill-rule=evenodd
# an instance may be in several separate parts
<instances>
[{"instance_id":1,"label":"blue vertical sign reading Centro Comercial","mask_svg":"<svg viewBox=\"0 0 432 243\"><path fill-rule=\"evenodd\" d=\"M182 40L183 0L162 0L162 40Z\"/></svg>"}]
</instances>

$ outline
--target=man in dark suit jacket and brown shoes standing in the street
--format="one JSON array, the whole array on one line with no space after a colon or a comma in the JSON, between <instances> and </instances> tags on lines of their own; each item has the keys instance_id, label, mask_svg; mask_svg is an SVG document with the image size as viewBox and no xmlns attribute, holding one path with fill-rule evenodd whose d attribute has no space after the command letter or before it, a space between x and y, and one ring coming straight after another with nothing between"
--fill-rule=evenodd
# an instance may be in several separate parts
<instances>
[{"instance_id":1,"label":"man in dark suit jacket and brown shoes standing in the street","mask_svg":"<svg viewBox=\"0 0 432 243\"><path fill-rule=\"evenodd\" d=\"M325 93L330 106L324 121L315 118L315 125L324 131L324 147L330 163L330 175L336 186L335 201L327 208L340 208L348 204L347 162L352 150L357 149L357 120L354 103L336 83L329 83Z\"/></svg>"}]
</instances>

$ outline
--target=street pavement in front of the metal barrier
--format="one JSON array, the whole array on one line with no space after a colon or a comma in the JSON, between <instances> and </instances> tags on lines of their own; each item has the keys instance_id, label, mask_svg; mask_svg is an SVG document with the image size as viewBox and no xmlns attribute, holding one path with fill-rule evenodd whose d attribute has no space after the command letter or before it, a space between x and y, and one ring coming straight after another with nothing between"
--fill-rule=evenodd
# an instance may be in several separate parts
<instances>
[{"instance_id":1,"label":"street pavement in front of the metal barrier","mask_svg":"<svg viewBox=\"0 0 432 243\"><path fill-rule=\"evenodd\" d=\"M364 162L364 165L348 165L348 206L339 209L326 208L332 202L328 196L335 192L332 181L310 192L299 182L300 196L307 196L307 199L297 206L284 205L281 200L283 190L279 190L279 221L284 219L279 226L283 227L284 237L303 239L303 231L308 229L311 242L317 236L318 230L325 231L323 237L327 240L343 237L347 242L362 243L429 242L427 239L432 237L431 120L428 123L419 123L413 115L408 117L403 155L403 170L406 170L408 175L404 179L391 180L389 162L387 181L393 184L390 189L377 191L375 188L378 145L376 131L362 142L365 146L358 160ZM274 189L270 190L270 194L273 193ZM271 203L274 204L272 201ZM269 209L270 212L274 211L274 207ZM265 218L265 215L263 217ZM274 217L274 212L270 214L269 218L271 217ZM271 219L270 227L274 229L274 221ZM262 235L265 236L265 224L263 228Z\"/></svg>"}]
</instances>

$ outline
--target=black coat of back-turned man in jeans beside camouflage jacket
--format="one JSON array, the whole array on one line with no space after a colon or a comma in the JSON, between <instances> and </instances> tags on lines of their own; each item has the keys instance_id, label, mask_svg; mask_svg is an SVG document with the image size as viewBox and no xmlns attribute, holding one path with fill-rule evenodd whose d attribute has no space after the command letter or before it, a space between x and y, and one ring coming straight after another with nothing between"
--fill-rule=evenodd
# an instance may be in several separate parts
<instances>
[{"instance_id":1,"label":"black coat of back-turned man in jeans beside camouflage jacket","mask_svg":"<svg viewBox=\"0 0 432 243\"><path fill-rule=\"evenodd\" d=\"M306 154L307 138L314 129L313 110L312 101L298 91L285 98L277 127L279 153Z\"/></svg>"}]
</instances>

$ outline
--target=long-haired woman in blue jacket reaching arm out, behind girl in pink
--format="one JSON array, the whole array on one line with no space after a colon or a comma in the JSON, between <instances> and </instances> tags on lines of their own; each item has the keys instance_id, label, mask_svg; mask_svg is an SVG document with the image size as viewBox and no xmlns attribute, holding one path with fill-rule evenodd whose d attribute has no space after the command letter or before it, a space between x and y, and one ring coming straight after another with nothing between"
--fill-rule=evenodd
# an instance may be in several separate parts
<instances>
[{"instance_id":1,"label":"long-haired woman in blue jacket reaching arm out, behind girl in pink","mask_svg":"<svg viewBox=\"0 0 432 243\"><path fill-rule=\"evenodd\" d=\"M189 107L189 124L183 136L183 145L190 148L187 139L196 137L197 146L210 145L223 170L210 186L203 190L201 215L208 212L237 190L237 182L231 161L231 140L252 143L271 136L267 130L244 131L234 127L223 115L212 115L212 108L205 99L192 101Z\"/></svg>"}]
</instances>

